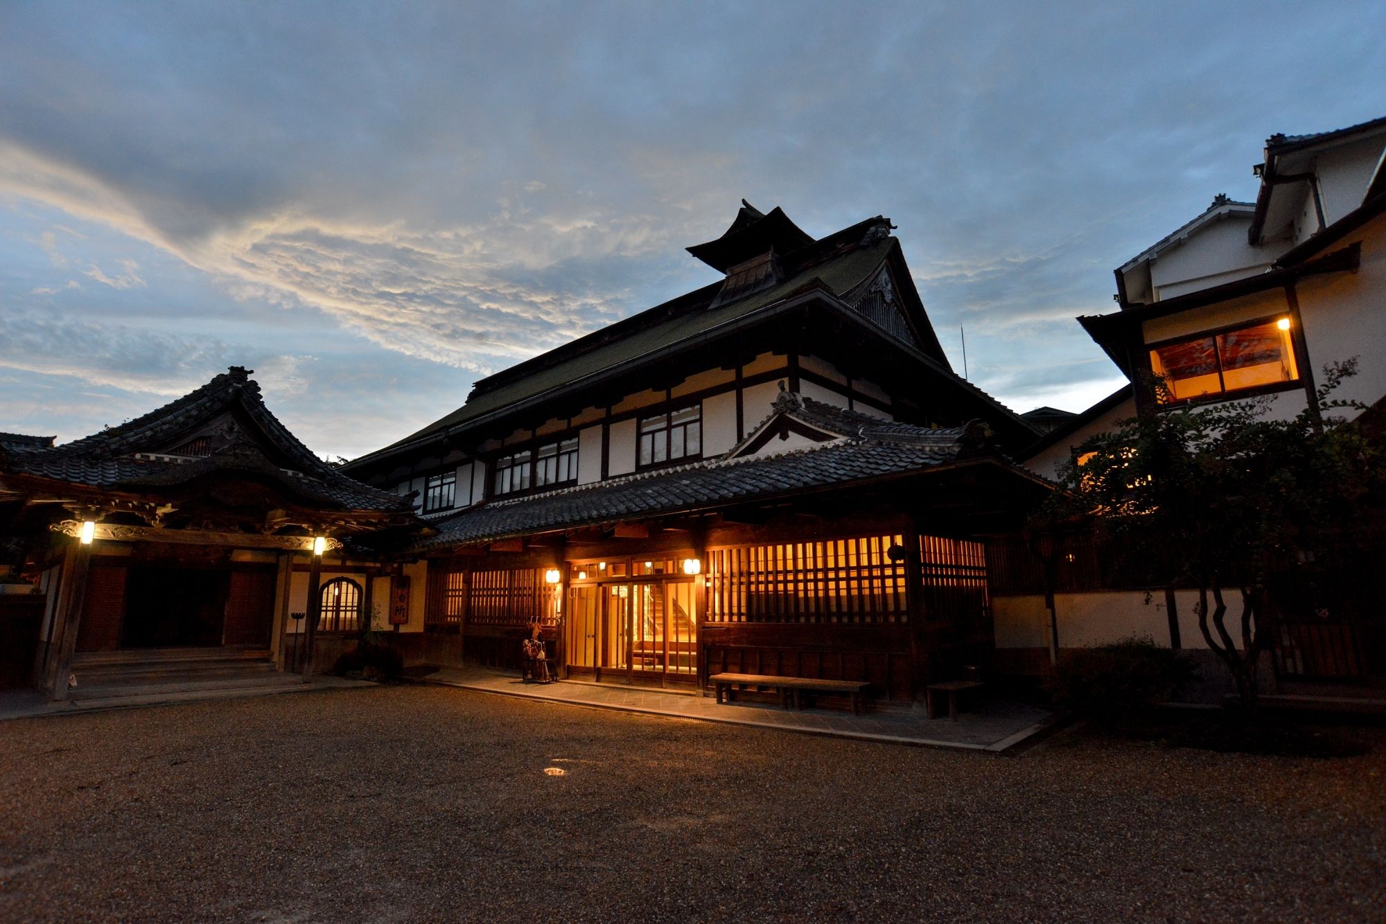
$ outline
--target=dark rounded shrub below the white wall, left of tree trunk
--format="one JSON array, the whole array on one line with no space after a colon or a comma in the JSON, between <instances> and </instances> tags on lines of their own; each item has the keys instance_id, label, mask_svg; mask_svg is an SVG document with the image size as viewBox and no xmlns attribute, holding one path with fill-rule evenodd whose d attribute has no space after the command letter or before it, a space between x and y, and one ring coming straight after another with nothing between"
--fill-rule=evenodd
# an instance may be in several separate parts
<instances>
[{"instance_id":1,"label":"dark rounded shrub below the white wall, left of tree trunk","mask_svg":"<svg viewBox=\"0 0 1386 924\"><path fill-rule=\"evenodd\" d=\"M1055 705L1098 720L1149 712L1196 677L1184 654L1150 639L1127 639L1070 652L1049 682Z\"/></svg>"}]
</instances>

